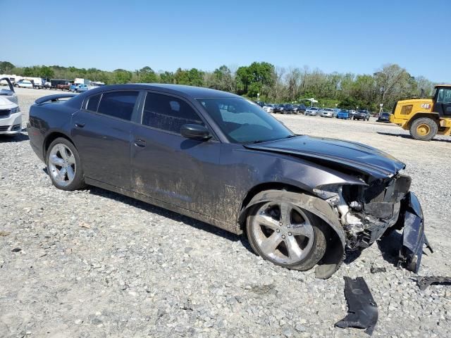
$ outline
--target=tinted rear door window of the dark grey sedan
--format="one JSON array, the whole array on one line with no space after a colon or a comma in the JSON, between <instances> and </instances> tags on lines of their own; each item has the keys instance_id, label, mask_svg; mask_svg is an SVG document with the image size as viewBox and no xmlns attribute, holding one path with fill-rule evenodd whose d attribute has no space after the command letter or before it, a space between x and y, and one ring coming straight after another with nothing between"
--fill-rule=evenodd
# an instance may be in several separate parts
<instances>
[{"instance_id":1,"label":"tinted rear door window of the dark grey sedan","mask_svg":"<svg viewBox=\"0 0 451 338\"><path fill-rule=\"evenodd\" d=\"M101 96L98 112L130 121L137 96L138 92L105 93Z\"/></svg>"}]
</instances>

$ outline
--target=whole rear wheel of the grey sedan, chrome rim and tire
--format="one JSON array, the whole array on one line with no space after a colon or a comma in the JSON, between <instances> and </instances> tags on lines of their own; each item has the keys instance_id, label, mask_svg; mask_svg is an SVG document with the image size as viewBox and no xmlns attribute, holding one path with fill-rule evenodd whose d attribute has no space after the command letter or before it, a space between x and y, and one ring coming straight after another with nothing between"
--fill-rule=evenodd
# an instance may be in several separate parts
<instances>
[{"instance_id":1,"label":"whole rear wheel of the grey sedan, chrome rim and tire","mask_svg":"<svg viewBox=\"0 0 451 338\"><path fill-rule=\"evenodd\" d=\"M51 142L47 150L47 170L58 189L72 191L85 187L80 156L68 139L58 137Z\"/></svg>"}]
</instances>

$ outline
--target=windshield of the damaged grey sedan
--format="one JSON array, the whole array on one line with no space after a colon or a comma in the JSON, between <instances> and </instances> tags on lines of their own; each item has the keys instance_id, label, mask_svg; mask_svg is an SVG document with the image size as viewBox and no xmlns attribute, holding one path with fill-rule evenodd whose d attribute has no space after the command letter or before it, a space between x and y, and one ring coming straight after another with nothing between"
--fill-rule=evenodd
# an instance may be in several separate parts
<instances>
[{"instance_id":1,"label":"windshield of the damaged grey sedan","mask_svg":"<svg viewBox=\"0 0 451 338\"><path fill-rule=\"evenodd\" d=\"M294 134L246 99L197 99L232 143L267 142Z\"/></svg>"}]
</instances>

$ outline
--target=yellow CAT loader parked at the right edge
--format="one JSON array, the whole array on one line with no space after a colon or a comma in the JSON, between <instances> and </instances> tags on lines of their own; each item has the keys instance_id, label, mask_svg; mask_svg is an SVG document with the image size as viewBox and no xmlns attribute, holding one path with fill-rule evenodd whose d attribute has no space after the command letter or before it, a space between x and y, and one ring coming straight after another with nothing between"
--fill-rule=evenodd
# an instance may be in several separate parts
<instances>
[{"instance_id":1,"label":"yellow CAT loader parked at the right edge","mask_svg":"<svg viewBox=\"0 0 451 338\"><path fill-rule=\"evenodd\" d=\"M390 122L422 141L436 134L451 135L451 84L436 85L432 99L397 101Z\"/></svg>"}]
</instances>

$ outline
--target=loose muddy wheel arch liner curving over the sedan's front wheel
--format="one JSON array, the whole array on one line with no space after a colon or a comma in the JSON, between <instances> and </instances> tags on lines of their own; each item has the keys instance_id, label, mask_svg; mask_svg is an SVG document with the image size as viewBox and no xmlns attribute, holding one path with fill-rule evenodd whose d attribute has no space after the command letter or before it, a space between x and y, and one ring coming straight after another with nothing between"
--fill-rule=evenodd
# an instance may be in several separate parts
<instances>
[{"instance_id":1,"label":"loose muddy wheel arch liner curving over the sedan's front wheel","mask_svg":"<svg viewBox=\"0 0 451 338\"><path fill-rule=\"evenodd\" d=\"M336 215L330 205L315 196L307 194L297 194L295 192L285 192L281 190L266 190L255 195L249 204L240 212L240 221L243 221L250 207L268 201L285 201L295 204L304 210L318 216L323 220L336 236L331 236L328 240L326 253L324 253L319 265L316 265L315 276L326 279L333 275L340 268L345 256L345 231L343 230L338 215Z\"/></svg>"}]
</instances>

